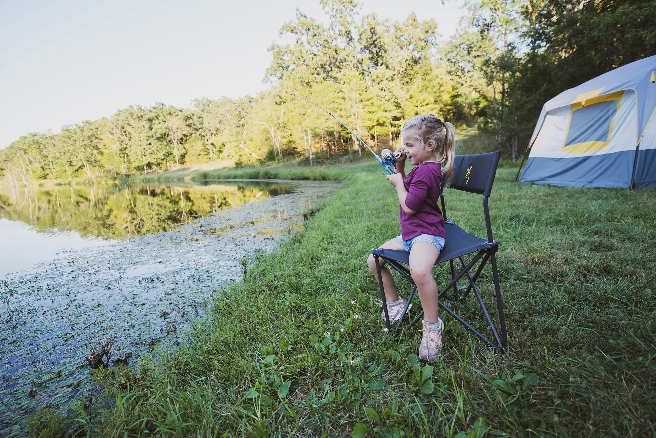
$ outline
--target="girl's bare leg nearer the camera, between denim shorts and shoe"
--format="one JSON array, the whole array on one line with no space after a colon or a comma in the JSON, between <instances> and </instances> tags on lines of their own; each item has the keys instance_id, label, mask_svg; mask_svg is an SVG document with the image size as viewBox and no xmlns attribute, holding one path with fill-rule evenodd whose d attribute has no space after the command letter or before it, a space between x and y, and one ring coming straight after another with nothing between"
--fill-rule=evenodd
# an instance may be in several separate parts
<instances>
[{"instance_id":1,"label":"girl's bare leg nearer the camera, between denim shorts and shoe","mask_svg":"<svg viewBox=\"0 0 656 438\"><path fill-rule=\"evenodd\" d=\"M417 284L419 300L424 308L424 320L428 324L438 322L440 291L433 278L433 266L439 255L440 250L429 242L415 242L410 250L410 274ZM387 286L385 286L385 290L387 290ZM387 294L385 295L387 296Z\"/></svg>"}]
</instances>

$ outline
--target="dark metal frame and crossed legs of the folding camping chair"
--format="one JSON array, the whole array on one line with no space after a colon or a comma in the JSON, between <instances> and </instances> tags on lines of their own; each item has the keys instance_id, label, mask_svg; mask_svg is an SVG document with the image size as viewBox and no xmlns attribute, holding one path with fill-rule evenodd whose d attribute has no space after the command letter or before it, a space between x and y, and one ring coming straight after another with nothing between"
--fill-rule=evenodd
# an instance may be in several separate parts
<instances>
[{"instance_id":1,"label":"dark metal frame and crossed legs of the folding camping chair","mask_svg":"<svg viewBox=\"0 0 656 438\"><path fill-rule=\"evenodd\" d=\"M499 154L499 151L497 151L497 154ZM446 305L445 303L440 302L440 307L443 308L447 313L449 313L449 315L451 315L453 318L455 318L455 320L460 322L464 327L466 327L468 330L470 330L472 333L474 333L476 336L478 336L478 338L482 339L482 341L485 341L485 343L487 343L487 345L489 345L490 347L492 347L493 349L495 349L498 352L504 353L504 351L508 347L508 334L506 333L506 322L505 322L505 318L504 318L503 302L502 302L502 297L501 297L501 286L499 284L499 271L497 269L496 253L499 251L499 243L500 242L498 240L493 239L492 224L491 224L491 220L490 220L489 207L487 205L487 200L488 200L489 194L491 192L492 184L493 184L493 181L494 181L494 175L497 171L498 163L499 163L499 156L497 155L496 163L494 163L493 166L490 169L491 176L489 177L489 179L487 181L487 187L486 187L485 191L482 193L482 195L483 195L483 215L485 217L485 228L487 230L487 242L485 242L485 248L483 248L482 250L474 250L470 253L466 253L466 254L460 255L458 257L453 257L451 259L448 259L449 267L451 269L451 282L449 282L449 284L447 284L447 286L445 286L445 288L443 288L443 290L441 290L439 292L439 300L441 301L442 298L445 298L445 299L448 299L449 301L453 301L453 302L462 302L468 297L470 292L473 290L474 295L476 296L476 299L478 301L478 304L480 305L480 307L482 309L483 315L485 316L485 320L487 320L487 323L489 324L489 327L492 330L493 338L494 338L493 340L488 339L485 336L483 336L480 332L478 332L478 330L476 330L476 328L472 327L462 317L457 315L457 313L455 313L453 310L451 310L449 308L449 306ZM458 188L458 187L453 187L453 188L456 188L457 190L462 190L462 188ZM452 221L450 219L447 219L446 206L445 206L445 202L444 202L443 191L440 194L440 202L441 202L442 215L443 215L443 218L444 218L445 227L455 225L454 221ZM457 227L457 225L455 225L455 227ZM412 289L411 289L410 295L408 296L407 303L405 303L405 307L403 307L403 312L401 313L401 317L399 318L399 322L398 322L398 324L396 324L396 327L394 328L394 332L392 332L393 335L396 335L399 328L401 327L401 324L403 323L403 318L405 318L405 315L408 311L408 307L409 307L413 297L415 296L415 292L417 292L417 285L413 281L409 269L407 269L406 267L401 265L401 263L404 263L404 262L400 262L400 261L395 260L393 258L386 257L384 255L384 250L380 250L379 248L373 248L373 250L371 250L371 253L374 256L374 260L375 260L375 263L376 263L376 271L377 271L377 274L378 274L378 281L379 281L379 286L380 286L380 297L382 299L382 309L383 309L383 312L384 312L384 315L385 315L386 326L387 326L388 330L390 330L390 316L388 315L388 311L387 311L387 301L386 301L386 298L385 298L384 287L383 287L383 284L382 284L382 275L380 274L380 261L379 261L379 259L383 259L390 267L392 267L392 269L394 269L395 271L400 273L401 276L403 276L403 278L408 280L413 286ZM464 255L468 255L468 254L472 254L472 253L476 253L476 255L474 255L474 257L468 263L465 263ZM459 261L461 263L461 266L462 266L461 271L459 271L459 273L457 273L457 274L455 273L455 267L454 267L454 263L453 263L454 259L459 259ZM472 276L472 274L470 273L470 270L481 259L482 259L482 261L481 261L480 265L478 265L478 269L476 269L476 272ZM438 257L438 260L436 261L435 265L439 265L440 263L445 263L446 261L447 260L440 260L440 258ZM485 303L483 303L483 299L482 299L481 294L478 290L478 287L476 286L476 280L478 280L478 277L482 273L483 268L485 267L485 265L487 264L488 261L491 262L491 266L492 266L493 282L494 282L494 286L495 286L495 295L496 295L496 298L497 298L497 311L499 313L499 328L501 328L501 336L499 336L499 332L497 332L497 328L495 327L495 324L493 323L493 321L492 321L492 319L491 319L491 317L490 317L490 315L487 311L487 307L485 307ZM464 292L464 294L462 294L462 296L459 297L458 296L457 283L464 276L466 276L466 280L468 282L468 287L467 287L466 291ZM453 296L449 297L449 296L447 296L447 292L451 288L453 288ZM419 313L419 315L417 315L417 317L415 317L415 319L413 319L412 322L410 322L407 326L405 326L405 328L403 328L402 333L407 332L407 330L409 330L414 324L416 324L419 321L419 318L422 317L422 315L424 315L423 311L421 313Z\"/></svg>"}]
</instances>

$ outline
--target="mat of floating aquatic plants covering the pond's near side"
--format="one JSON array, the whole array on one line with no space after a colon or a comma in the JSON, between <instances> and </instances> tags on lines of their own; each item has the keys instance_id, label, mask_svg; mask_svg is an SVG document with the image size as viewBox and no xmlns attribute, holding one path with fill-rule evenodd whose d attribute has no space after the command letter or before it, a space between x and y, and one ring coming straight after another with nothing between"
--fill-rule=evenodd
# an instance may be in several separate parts
<instances>
[{"instance_id":1,"label":"mat of floating aquatic plants covering the pond's near side","mask_svg":"<svg viewBox=\"0 0 656 438\"><path fill-rule=\"evenodd\" d=\"M10 276L0 286L15 291L10 317L0 315L0 430L25 426L37 408L66 412L74 400L92 403L100 392L94 373L122 367L128 379L138 359L177 349L221 284L242 278L239 260L274 248L332 187L295 183L287 195L260 195L183 227L62 252Z\"/></svg>"}]
</instances>

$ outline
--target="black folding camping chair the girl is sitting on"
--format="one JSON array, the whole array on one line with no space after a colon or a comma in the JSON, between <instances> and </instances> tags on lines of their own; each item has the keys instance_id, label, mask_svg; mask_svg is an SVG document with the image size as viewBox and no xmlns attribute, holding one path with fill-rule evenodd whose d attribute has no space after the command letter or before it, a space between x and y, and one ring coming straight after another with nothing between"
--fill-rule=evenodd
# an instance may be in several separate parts
<instances>
[{"instance_id":1,"label":"black folding camping chair the girl is sitting on","mask_svg":"<svg viewBox=\"0 0 656 438\"><path fill-rule=\"evenodd\" d=\"M485 315L485 319L487 320L492 330L494 340L492 341L483 336L480 332L478 332L478 330L468 324L468 322L462 319L454 311L449 309L449 307L445 305L443 301L440 301L440 307L447 311L447 313L454 317L463 326L476 334L476 336L485 341L488 345L497 349L497 351L504 351L504 349L508 346L508 335L506 334L506 322L503 315L501 287L499 286L499 273L497 271L497 259L495 257L495 253L499 250L499 241L492 238L492 225L490 223L489 209L487 208L487 198L489 198L490 192L492 190L492 184L494 183L494 177L497 173L497 165L499 165L500 156L501 153L497 150L497 152L490 152L489 154L458 155L455 157L454 175L453 181L451 182L451 188L462 190L464 192L483 195L483 214L485 215L487 240L472 236L471 234L468 234L466 231L462 230L461 227L458 227L458 225L456 225L452 220L447 220L444 195L442 194L440 196L440 200L442 206L442 215L444 217L445 245L440 252L440 256L438 257L438 260L435 264L438 265L448 261L451 267L452 280L443 290L440 291L440 300L445 298L454 302L464 301L469 293L473 290L474 295L478 300L478 304L483 311L483 315ZM408 264L410 252L374 248L371 250L371 253L373 254L373 257L376 261L376 270L378 273L378 281L380 285L380 297L382 298L382 308L385 313L388 330L390 329L390 316L387 313L387 302L385 299L385 291L382 286L379 259L386 261L390 267L398 271L398 273L400 273L403 278L408 280L413 286L410 292L410 296L407 299L405 308L403 309L403 313L401 313L401 318L399 319L398 324L396 324L396 328L394 328L394 334L396 334L401 326L401 323L403 322L403 318L405 317L409 303L415 296L415 292L417 292L417 286L415 285L415 282L413 282L410 271L406 267L402 266ZM475 255L468 263L465 263L464 256L469 254ZM455 273L454 269L453 261L455 259L459 260L462 266L462 269L458 274ZM488 260L492 263L492 275L495 292L497 295L497 310L499 311L499 327L501 328L501 338L499 338L497 328L495 328L495 325L492 322L489 313L487 312L487 308L483 303L481 294L476 287L476 280L478 280L478 276L480 276L481 272L483 271L483 267L485 267L485 264ZM476 273L474 273L474 276L472 276L470 270L472 267L474 267L474 265L476 265L478 261L480 261L478 269L476 269ZM464 294L459 297L457 284L463 276L466 277L468 286ZM446 294L447 291L451 288L453 288L453 296L448 297ZM422 317L423 314L424 312L422 311L419 315L417 315L417 317L410 324L403 328L403 332L409 330L413 324L419 321L419 318Z\"/></svg>"}]
</instances>

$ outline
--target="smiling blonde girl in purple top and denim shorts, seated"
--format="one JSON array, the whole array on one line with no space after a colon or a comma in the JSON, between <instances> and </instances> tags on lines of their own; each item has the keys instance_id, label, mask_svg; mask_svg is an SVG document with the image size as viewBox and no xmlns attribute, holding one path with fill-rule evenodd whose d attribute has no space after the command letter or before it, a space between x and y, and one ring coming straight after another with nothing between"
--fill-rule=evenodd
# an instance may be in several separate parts
<instances>
[{"instance_id":1,"label":"smiling blonde girl in purple top and denim shorts, seated","mask_svg":"<svg viewBox=\"0 0 656 438\"><path fill-rule=\"evenodd\" d=\"M432 362L440 355L444 323L438 317L438 285L433 279L433 265L444 247L444 218L438 206L440 183L448 187L453 177L455 129L448 121L433 114L411 118L401 130L403 148L396 160L396 174L387 179L396 188L401 204L401 235L388 240L380 248L410 252L410 273L417 284L419 300L424 308L423 337L419 357ZM405 160L413 169L405 176ZM392 273L381 263L380 274L390 320L398 321L405 306L399 298ZM369 269L378 278L373 255L367 259ZM411 305L412 306L412 305ZM385 320L385 313L382 313Z\"/></svg>"}]
</instances>

